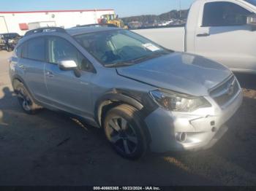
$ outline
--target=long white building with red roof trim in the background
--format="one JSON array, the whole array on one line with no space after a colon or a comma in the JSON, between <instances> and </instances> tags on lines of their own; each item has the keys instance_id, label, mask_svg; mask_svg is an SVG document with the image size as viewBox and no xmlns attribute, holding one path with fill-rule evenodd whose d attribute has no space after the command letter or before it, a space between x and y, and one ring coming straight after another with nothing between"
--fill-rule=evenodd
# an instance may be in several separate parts
<instances>
[{"instance_id":1,"label":"long white building with red roof trim in the background","mask_svg":"<svg viewBox=\"0 0 256 191\"><path fill-rule=\"evenodd\" d=\"M102 15L115 14L113 9L53 10L31 12L0 12L0 34L23 35L35 26L73 26L98 23Z\"/></svg>"}]
</instances>

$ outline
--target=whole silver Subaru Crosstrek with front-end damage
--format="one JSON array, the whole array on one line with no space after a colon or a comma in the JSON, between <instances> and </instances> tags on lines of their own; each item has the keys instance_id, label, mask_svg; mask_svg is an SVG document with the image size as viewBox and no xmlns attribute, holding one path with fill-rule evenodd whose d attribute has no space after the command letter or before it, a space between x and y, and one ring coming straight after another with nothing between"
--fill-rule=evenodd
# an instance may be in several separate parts
<instances>
[{"instance_id":1,"label":"whole silver Subaru Crosstrek with front-end damage","mask_svg":"<svg viewBox=\"0 0 256 191\"><path fill-rule=\"evenodd\" d=\"M20 39L10 77L23 110L64 111L104 128L119 155L206 149L242 102L233 73L108 27L38 28Z\"/></svg>"}]
</instances>

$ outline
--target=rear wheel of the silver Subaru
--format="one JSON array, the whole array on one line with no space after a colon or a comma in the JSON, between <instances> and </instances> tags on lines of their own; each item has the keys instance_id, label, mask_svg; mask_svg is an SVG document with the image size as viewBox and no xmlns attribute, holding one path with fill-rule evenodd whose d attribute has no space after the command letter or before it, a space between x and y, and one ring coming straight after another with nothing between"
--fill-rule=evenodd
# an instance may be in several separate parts
<instances>
[{"instance_id":1,"label":"rear wheel of the silver Subaru","mask_svg":"<svg viewBox=\"0 0 256 191\"><path fill-rule=\"evenodd\" d=\"M18 102L20 106L27 114L35 114L39 109L42 108L41 106L34 103L31 95L29 95L28 90L26 90L26 87L22 83L19 82L15 86L15 93L18 96Z\"/></svg>"}]
</instances>

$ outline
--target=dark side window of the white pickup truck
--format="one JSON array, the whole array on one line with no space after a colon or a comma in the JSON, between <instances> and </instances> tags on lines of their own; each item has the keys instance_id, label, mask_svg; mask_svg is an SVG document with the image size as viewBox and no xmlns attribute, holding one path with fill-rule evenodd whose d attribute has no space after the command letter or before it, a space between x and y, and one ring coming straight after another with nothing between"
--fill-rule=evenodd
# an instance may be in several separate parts
<instances>
[{"instance_id":1,"label":"dark side window of the white pickup truck","mask_svg":"<svg viewBox=\"0 0 256 191\"><path fill-rule=\"evenodd\" d=\"M230 2L206 3L203 9L203 26L242 26L252 15L247 9Z\"/></svg>"}]
</instances>

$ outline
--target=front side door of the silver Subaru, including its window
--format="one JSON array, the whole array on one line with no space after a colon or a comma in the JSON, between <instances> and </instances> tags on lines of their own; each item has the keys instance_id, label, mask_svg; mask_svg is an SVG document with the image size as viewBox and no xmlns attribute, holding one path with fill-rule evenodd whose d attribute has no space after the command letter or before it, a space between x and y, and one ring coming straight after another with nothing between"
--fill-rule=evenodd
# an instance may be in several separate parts
<instances>
[{"instance_id":1,"label":"front side door of the silver Subaru, including its window","mask_svg":"<svg viewBox=\"0 0 256 191\"><path fill-rule=\"evenodd\" d=\"M61 61L75 61L81 77L76 77L72 70L59 69L58 64ZM52 104L61 110L91 120L94 115L91 104L91 78L95 73L86 70L88 65L91 65L89 60L69 41L59 36L48 37L45 81Z\"/></svg>"}]
</instances>

